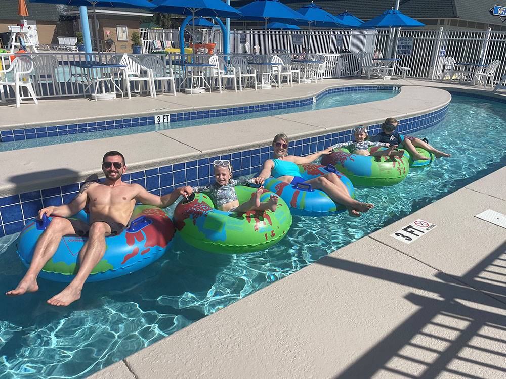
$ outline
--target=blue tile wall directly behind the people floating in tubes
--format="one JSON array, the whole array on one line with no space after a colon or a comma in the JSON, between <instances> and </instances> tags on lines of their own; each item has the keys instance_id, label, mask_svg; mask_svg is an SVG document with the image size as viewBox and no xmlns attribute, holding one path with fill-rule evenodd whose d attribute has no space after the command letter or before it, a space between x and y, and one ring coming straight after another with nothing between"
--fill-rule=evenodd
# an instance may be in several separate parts
<instances>
[{"instance_id":1,"label":"blue tile wall directly behind the people floating in tubes","mask_svg":"<svg viewBox=\"0 0 506 379\"><path fill-rule=\"evenodd\" d=\"M434 112L401 120L398 130L401 133L425 129L440 122L445 116L448 106ZM368 125L369 132L374 135L380 130L379 124ZM290 143L289 154L307 155L324 148L350 140L353 130L344 130L315 137L297 139ZM271 147L243 150L231 154L207 157L168 166L132 172L123 175L123 180L138 183L149 192L163 196L182 185L201 185L213 180L212 162L215 159L226 159L232 162L234 176L245 176L259 172L262 163L271 156ZM20 231L32 220L39 209L50 205L69 203L78 193L83 183L63 185L60 187L41 189L19 195L0 198L0 237Z\"/></svg>"}]
</instances>

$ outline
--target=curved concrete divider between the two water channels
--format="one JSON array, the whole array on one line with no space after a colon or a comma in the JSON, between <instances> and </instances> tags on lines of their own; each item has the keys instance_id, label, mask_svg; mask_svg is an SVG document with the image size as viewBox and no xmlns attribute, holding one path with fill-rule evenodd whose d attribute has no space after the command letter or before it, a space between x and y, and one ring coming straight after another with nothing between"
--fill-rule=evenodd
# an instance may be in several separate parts
<instances>
[{"instance_id":1,"label":"curved concrete divider between the two water channels","mask_svg":"<svg viewBox=\"0 0 506 379\"><path fill-rule=\"evenodd\" d=\"M0 153L4 163L0 166L0 197L73 184L92 175L102 176L100 159L109 150L123 152L129 172L135 172L268 146L273 135L279 132L290 138L307 138L347 130L358 124L378 124L386 115L402 120L441 109L450 100L445 90L410 85L401 87L393 98L367 103L366 112L363 104L355 104L5 151ZM79 159L71 159L67 167L62 165L61 157Z\"/></svg>"}]
</instances>

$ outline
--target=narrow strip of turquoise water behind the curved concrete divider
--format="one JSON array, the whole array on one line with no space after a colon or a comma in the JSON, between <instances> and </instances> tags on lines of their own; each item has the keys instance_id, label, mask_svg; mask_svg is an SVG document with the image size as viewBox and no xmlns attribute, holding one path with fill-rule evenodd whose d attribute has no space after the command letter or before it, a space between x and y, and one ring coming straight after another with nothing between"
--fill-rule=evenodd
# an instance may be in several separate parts
<instances>
[{"instance_id":1,"label":"narrow strip of turquoise water behind the curved concrete divider","mask_svg":"<svg viewBox=\"0 0 506 379\"><path fill-rule=\"evenodd\" d=\"M385 100L396 96L398 92L395 92L391 89L383 89L383 90L360 90L360 91L350 91L350 92L338 92L331 93L316 103L307 105L304 107L298 108L287 108L287 109L277 109L272 111L264 111L264 112L255 112L255 113L246 113L242 115L234 115L234 116L220 116L220 117L212 117L206 119L199 120L189 120L189 121L180 121L180 122L172 122L172 123L164 123L164 124L150 124L146 126L136 126L132 128L124 128L124 129L114 129L114 130L102 130L88 133L79 133L79 134L68 134L61 135L57 137L46 137L46 138L36 138L36 139L28 139L24 141L14 141L14 142L3 142L0 143L0 152L8 151L8 150L18 150L18 149L27 149L34 148L37 146L47 146L47 145L57 145L57 144L65 144L68 142L74 141L85 141L90 139L99 139L99 138L107 138L114 137L118 135L129 135L136 133L145 133L149 131L156 130L166 130L166 129L177 129L177 128L185 128L188 126L196 126L196 125L208 125L208 124L216 124L219 122L228 122L228 121L237 121L237 120L246 120L250 118L257 117L266 117L266 116L275 116L286 113L295 113L295 112L303 112L303 111L311 111L317 109L325 109L325 108L333 108L333 107L343 107L346 105L352 104L361 104L367 102L373 102L378 100ZM196 96L196 95L195 95Z\"/></svg>"}]
</instances>

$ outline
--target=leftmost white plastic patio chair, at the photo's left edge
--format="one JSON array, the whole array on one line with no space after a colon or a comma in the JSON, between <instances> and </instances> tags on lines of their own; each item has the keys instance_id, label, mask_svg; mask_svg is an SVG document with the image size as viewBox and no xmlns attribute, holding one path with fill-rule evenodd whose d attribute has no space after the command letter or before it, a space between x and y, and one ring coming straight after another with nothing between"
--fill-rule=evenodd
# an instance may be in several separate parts
<instances>
[{"instance_id":1,"label":"leftmost white plastic patio chair, at the photo's left edge","mask_svg":"<svg viewBox=\"0 0 506 379\"><path fill-rule=\"evenodd\" d=\"M30 82L30 73L33 71L33 61L30 57L22 55L14 59L7 70L0 70L0 101L5 103L4 86L13 87L16 95L16 107L19 108L22 99L32 98L35 104L38 104L35 91ZM12 81L9 81L9 76L5 75L12 73ZM23 96L22 88L28 90L29 96Z\"/></svg>"}]
</instances>

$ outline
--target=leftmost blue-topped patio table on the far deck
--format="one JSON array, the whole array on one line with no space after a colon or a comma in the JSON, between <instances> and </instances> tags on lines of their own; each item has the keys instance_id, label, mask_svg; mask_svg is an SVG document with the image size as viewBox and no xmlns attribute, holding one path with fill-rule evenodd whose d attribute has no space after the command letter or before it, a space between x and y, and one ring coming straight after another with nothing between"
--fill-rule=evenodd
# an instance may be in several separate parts
<instances>
[{"instance_id":1,"label":"leftmost blue-topped patio table on the far deck","mask_svg":"<svg viewBox=\"0 0 506 379\"><path fill-rule=\"evenodd\" d=\"M92 97L95 97L95 101L97 100L113 100L116 99L116 91L114 92L107 92L105 90L105 82L111 82L112 86L110 89L115 88L119 90L119 93L121 93L121 98L123 97L123 91L121 88L116 84L116 81L114 80L114 76L112 74L113 69L123 69L126 66L121 65L119 63L102 63L98 61L58 61L58 64L60 66L69 66L69 67L78 67L80 69L88 70L88 74L85 72L82 73L75 73L75 77L77 78L77 75L80 75L81 77L84 77L88 83L88 85L83 89L83 94L86 97L86 91L88 88L90 88L93 84L95 84L95 92L92 95ZM110 76L104 76L105 70L110 69ZM95 70L100 70L100 75L95 75ZM72 70L70 70L70 76L72 77ZM101 87L101 93L97 93L98 87ZM75 82L75 85L77 86L77 80ZM74 87L73 87L74 88Z\"/></svg>"}]
</instances>

